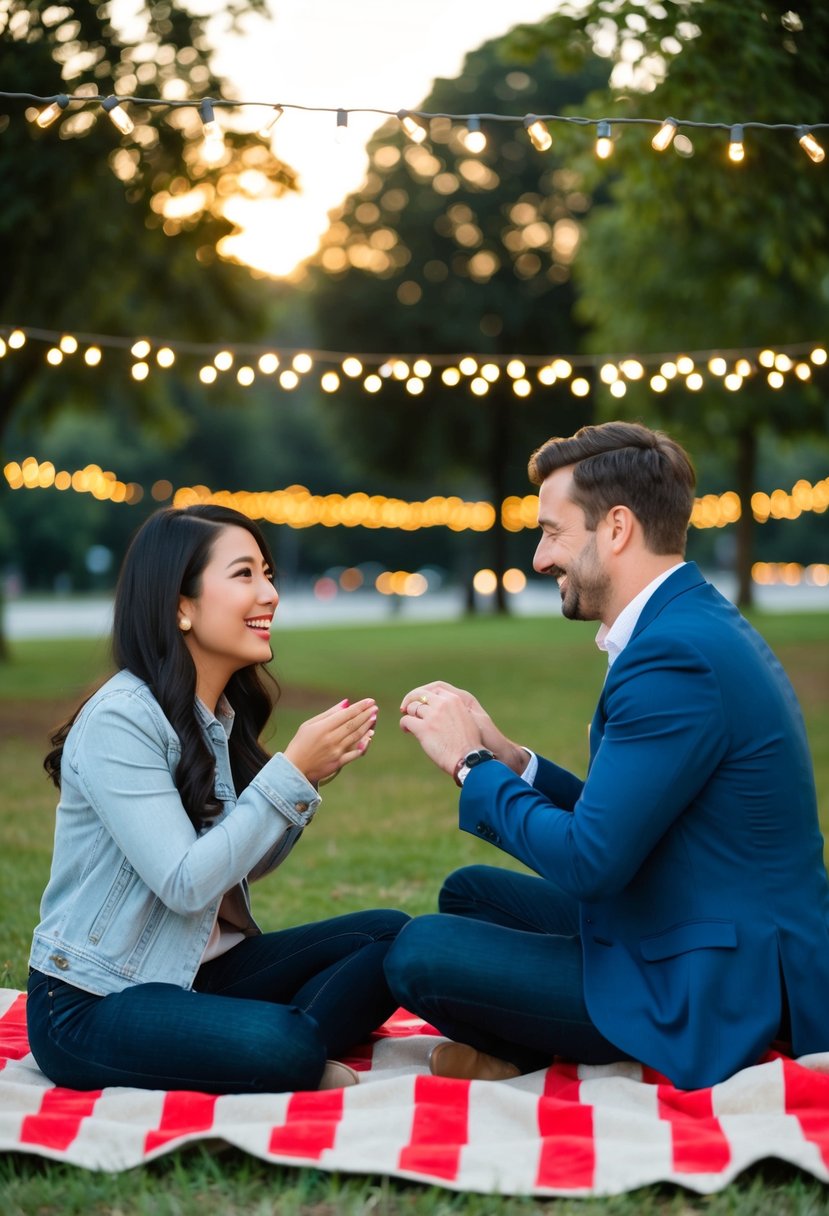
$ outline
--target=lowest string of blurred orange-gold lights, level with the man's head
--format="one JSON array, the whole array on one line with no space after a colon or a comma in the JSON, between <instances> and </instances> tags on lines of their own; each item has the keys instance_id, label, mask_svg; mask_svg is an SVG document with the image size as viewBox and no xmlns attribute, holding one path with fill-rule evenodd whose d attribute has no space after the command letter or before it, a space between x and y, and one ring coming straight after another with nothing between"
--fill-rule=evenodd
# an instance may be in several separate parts
<instances>
[{"instance_id":1,"label":"lowest string of blurred orange-gold lights, level with the man's head","mask_svg":"<svg viewBox=\"0 0 829 1216\"><path fill-rule=\"evenodd\" d=\"M12 490L74 490L91 494L98 501L136 505L145 497L145 490L135 482L120 482L114 473L105 472L98 465L86 465L83 469L57 471L51 461L38 461L34 456L10 461L4 475ZM425 502L406 502L384 495L311 494L304 485L292 485L284 490L219 490L205 485L181 486L159 480L151 488L151 496L158 501L171 501L176 507L197 502L215 502L233 507L252 519L265 519L289 528L397 528L417 531L421 528L449 528L452 531L490 531L496 524L496 510L490 502L466 502L457 496L433 496ZM801 479L790 491L757 491L751 496L751 513L757 523L769 519L797 519L801 514L823 514L829 510L829 477L811 483ZM724 494L706 494L694 500L690 517L692 528L726 528L740 518L743 507L733 490ZM501 503L502 527L511 533L536 528L538 499L535 494L512 495Z\"/></svg>"}]
</instances>

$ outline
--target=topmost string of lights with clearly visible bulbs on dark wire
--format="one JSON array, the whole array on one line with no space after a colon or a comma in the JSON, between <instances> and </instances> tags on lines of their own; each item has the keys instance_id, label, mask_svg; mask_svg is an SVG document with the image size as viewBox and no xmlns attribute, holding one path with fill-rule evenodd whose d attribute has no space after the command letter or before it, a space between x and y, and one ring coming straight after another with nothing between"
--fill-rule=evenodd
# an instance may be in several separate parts
<instances>
[{"instance_id":1,"label":"topmost string of lights with clearly visible bulbs on dark wire","mask_svg":"<svg viewBox=\"0 0 829 1216\"><path fill-rule=\"evenodd\" d=\"M819 163L824 159L824 150L818 142L817 135L818 130L823 130L829 126L829 123L761 123L752 120L744 120L740 123L734 122L700 122L698 119L690 118L645 118L645 117L632 117L632 116L617 116L617 117L605 117L605 118L591 118L591 117L579 117L571 114L492 114L492 113L478 113L478 114L452 114L436 111L423 111L423 109L382 109L379 107L365 106L357 108L346 109L344 107L332 107L332 106L303 106L287 101L237 101L225 97L210 97L202 100L187 100L187 98L171 98L171 97L140 97L140 96L123 96L123 97L102 97L102 96L90 96L86 94L55 94L52 96L40 96L32 92L2 92L0 91L0 100L5 101L23 101L33 102L35 106L41 107L35 109L32 114L33 122L39 126L49 126L52 124L61 114L68 108L94 108L100 106L109 114L112 120L115 123L118 129L123 134L129 134L132 130L132 120L130 119L128 112L124 109L125 105L139 106L145 109L160 109L160 111L173 111L190 107L191 109L198 109L203 122L214 122L215 119L205 119L204 107L209 106L210 111L216 108L232 109L232 111L247 111L247 109L266 109L270 111L270 122L266 124L259 124L259 134L263 139L270 137L270 131L273 123L282 117L287 111L293 112L305 112L305 113L329 113L334 116L335 125L334 131L338 137L342 137L348 131L349 116L350 114L377 114L378 118L396 118L406 135L414 140L416 142L422 142L428 135L428 124L432 119L444 119L452 123L457 123L463 128L463 141L469 152L473 156L480 154L487 145L485 125L495 125L498 123L507 123L515 126L523 126L528 134L528 137L532 142L534 147L538 151L545 152L552 146L552 135L547 130L549 124L568 124L571 126L585 126L596 129L596 151L599 157L608 157L613 151L613 139L610 135L610 125L615 126L656 126L656 134L652 140L652 146L658 152L664 152L671 146L676 134L682 130L710 130L710 131L726 131L728 134L728 159L733 163L739 163L745 157L744 148L744 133L748 130L774 130L774 131L789 131L795 135L799 143L806 152L806 154ZM122 125L123 124L123 125ZM546 134L545 134L546 133ZM221 134L221 133L219 133ZM218 146L218 137L216 137Z\"/></svg>"}]
</instances>

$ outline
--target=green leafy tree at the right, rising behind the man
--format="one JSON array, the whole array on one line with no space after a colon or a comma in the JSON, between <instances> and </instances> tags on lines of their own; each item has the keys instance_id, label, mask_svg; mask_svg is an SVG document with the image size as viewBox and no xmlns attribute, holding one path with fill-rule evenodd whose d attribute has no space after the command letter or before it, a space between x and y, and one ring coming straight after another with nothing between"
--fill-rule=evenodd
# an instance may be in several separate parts
<instances>
[{"instance_id":1,"label":"green leafy tree at the right, rising behind the man","mask_svg":"<svg viewBox=\"0 0 829 1216\"><path fill-rule=\"evenodd\" d=\"M514 54L529 60L548 47L573 66L602 50L614 83L590 100L596 117L791 124L825 119L829 108L829 10L810 0L795 9L767 0L592 0L513 39ZM650 147L655 128L613 130L614 154L603 165L592 148L585 156L583 129L562 136L590 187L603 182L608 192L591 212L574 268L592 350L727 351L825 333L829 179L795 133L746 128L745 161L734 165L726 157L728 131L681 126L683 154L659 156ZM607 395L600 405L613 415L648 412L731 452L743 505L741 604L751 598L758 434L823 437L829 426L818 385L794 382L776 393L758 371L740 392L707 376L700 393L673 388L648 394L645 404L631 385L622 404Z\"/></svg>"}]
</instances>

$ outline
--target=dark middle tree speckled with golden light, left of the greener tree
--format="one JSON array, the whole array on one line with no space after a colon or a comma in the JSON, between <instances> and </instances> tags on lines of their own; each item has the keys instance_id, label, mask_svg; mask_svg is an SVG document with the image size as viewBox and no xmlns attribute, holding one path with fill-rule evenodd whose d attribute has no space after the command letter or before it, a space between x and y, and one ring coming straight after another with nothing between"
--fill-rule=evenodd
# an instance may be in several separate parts
<instances>
[{"instance_id":1,"label":"dark middle tree speckled with golden light, left of the greener tree","mask_svg":"<svg viewBox=\"0 0 829 1216\"><path fill-rule=\"evenodd\" d=\"M519 64L498 40L467 56L457 79L436 80L422 108L547 111L600 79L592 66L564 77L547 55ZM468 353L480 364L503 364L515 351L552 359L577 347L570 269L590 206L580 175L556 152L537 152L520 124L484 129L480 156L447 119L430 122L424 143L408 141L396 120L373 137L367 179L332 213L312 272L322 345L402 359ZM498 505L511 484L523 492L530 450L551 430L585 421L585 406L566 389L541 385L519 399L503 366L485 396L469 383L450 392L438 367L417 398L394 378L376 396L359 385L340 390L340 441L367 469L393 468L427 482L428 492L445 478L455 492L466 484ZM498 525L491 535L501 574L507 534Z\"/></svg>"}]
</instances>

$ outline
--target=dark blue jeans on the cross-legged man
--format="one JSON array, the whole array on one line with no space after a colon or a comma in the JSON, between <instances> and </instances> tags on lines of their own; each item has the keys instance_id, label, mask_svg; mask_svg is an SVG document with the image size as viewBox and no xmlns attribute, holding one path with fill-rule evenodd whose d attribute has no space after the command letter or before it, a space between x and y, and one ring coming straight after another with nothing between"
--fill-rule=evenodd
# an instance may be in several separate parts
<instances>
[{"instance_id":1,"label":"dark blue jeans on the cross-legged man","mask_svg":"<svg viewBox=\"0 0 829 1216\"><path fill-rule=\"evenodd\" d=\"M553 883L494 866L446 879L385 961L397 1002L441 1034L517 1064L625 1059L585 1004L579 903Z\"/></svg>"}]
</instances>

